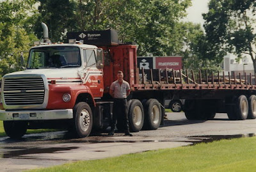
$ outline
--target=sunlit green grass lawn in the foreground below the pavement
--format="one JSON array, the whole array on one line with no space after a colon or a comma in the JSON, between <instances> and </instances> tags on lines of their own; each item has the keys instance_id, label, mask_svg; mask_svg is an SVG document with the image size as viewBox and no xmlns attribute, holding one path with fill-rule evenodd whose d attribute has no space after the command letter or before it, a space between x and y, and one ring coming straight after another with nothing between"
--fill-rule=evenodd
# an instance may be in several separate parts
<instances>
[{"instance_id":1,"label":"sunlit green grass lawn in the foreground below the pavement","mask_svg":"<svg viewBox=\"0 0 256 172\"><path fill-rule=\"evenodd\" d=\"M256 171L256 137L77 161L32 171Z\"/></svg>"}]
</instances>

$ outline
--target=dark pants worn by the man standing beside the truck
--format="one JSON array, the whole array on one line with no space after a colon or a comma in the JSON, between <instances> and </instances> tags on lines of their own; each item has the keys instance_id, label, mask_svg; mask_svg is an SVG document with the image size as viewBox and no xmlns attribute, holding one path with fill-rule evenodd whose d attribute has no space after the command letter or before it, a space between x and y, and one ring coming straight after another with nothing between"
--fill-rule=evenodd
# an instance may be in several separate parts
<instances>
[{"instance_id":1,"label":"dark pants worn by the man standing beside the truck","mask_svg":"<svg viewBox=\"0 0 256 172\"><path fill-rule=\"evenodd\" d=\"M116 121L119 117L124 118L125 133L129 133L129 121L128 121L128 109L126 98L114 98L113 104L113 119L111 121L111 130L114 131L116 127Z\"/></svg>"}]
</instances>

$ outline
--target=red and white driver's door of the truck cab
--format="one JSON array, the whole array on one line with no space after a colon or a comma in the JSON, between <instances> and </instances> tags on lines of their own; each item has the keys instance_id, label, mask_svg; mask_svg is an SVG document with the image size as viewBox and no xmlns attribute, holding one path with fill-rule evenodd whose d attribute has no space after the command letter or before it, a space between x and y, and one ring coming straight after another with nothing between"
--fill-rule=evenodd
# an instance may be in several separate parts
<instances>
[{"instance_id":1,"label":"red and white driver's door of the truck cab","mask_svg":"<svg viewBox=\"0 0 256 172\"><path fill-rule=\"evenodd\" d=\"M83 49L84 79L83 82L90 88L94 98L103 96L102 69L96 68L96 56L94 49Z\"/></svg>"}]
</instances>

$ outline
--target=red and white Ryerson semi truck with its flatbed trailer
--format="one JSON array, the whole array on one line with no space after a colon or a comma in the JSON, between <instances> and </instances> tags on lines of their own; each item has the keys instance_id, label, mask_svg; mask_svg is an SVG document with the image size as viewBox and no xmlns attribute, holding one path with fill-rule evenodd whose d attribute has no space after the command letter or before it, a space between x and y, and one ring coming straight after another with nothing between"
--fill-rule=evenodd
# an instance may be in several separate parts
<instances>
[{"instance_id":1,"label":"red and white Ryerson semi truck with its flatbed trailer","mask_svg":"<svg viewBox=\"0 0 256 172\"><path fill-rule=\"evenodd\" d=\"M63 127L77 137L106 129L113 105L109 86L118 70L131 84L128 104L133 132L156 130L164 123L165 99L184 99L188 120L209 120L216 113L227 113L230 120L256 118L251 74L237 79L199 72L196 78L193 72L182 70L140 70L137 46L118 44L113 30L103 32L107 35L97 31L69 34L95 42L96 47L76 40L51 43L47 26L42 26L44 42L30 49L26 70L4 75L1 82L4 109L0 120L9 137L22 137L27 129ZM117 127L122 130L122 126L120 119Z\"/></svg>"}]
</instances>

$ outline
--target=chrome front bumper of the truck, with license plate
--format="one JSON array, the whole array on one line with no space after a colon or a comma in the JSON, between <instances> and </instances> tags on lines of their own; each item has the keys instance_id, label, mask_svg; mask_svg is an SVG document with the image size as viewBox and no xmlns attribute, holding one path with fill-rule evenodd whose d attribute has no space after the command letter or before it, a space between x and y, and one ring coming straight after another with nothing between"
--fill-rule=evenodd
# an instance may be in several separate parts
<instances>
[{"instance_id":1,"label":"chrome front bumper of the truck, with license plate","mask_svg":"<svg viewBox=\"0 0 256 172\"><path fill-rule=\"evenodd\" d=\"M0 110L0 120L19 121L19 120L64 120L73 118L73 109L57 110L20 110L3 111Z\"/></svg>"}]
</instances>

